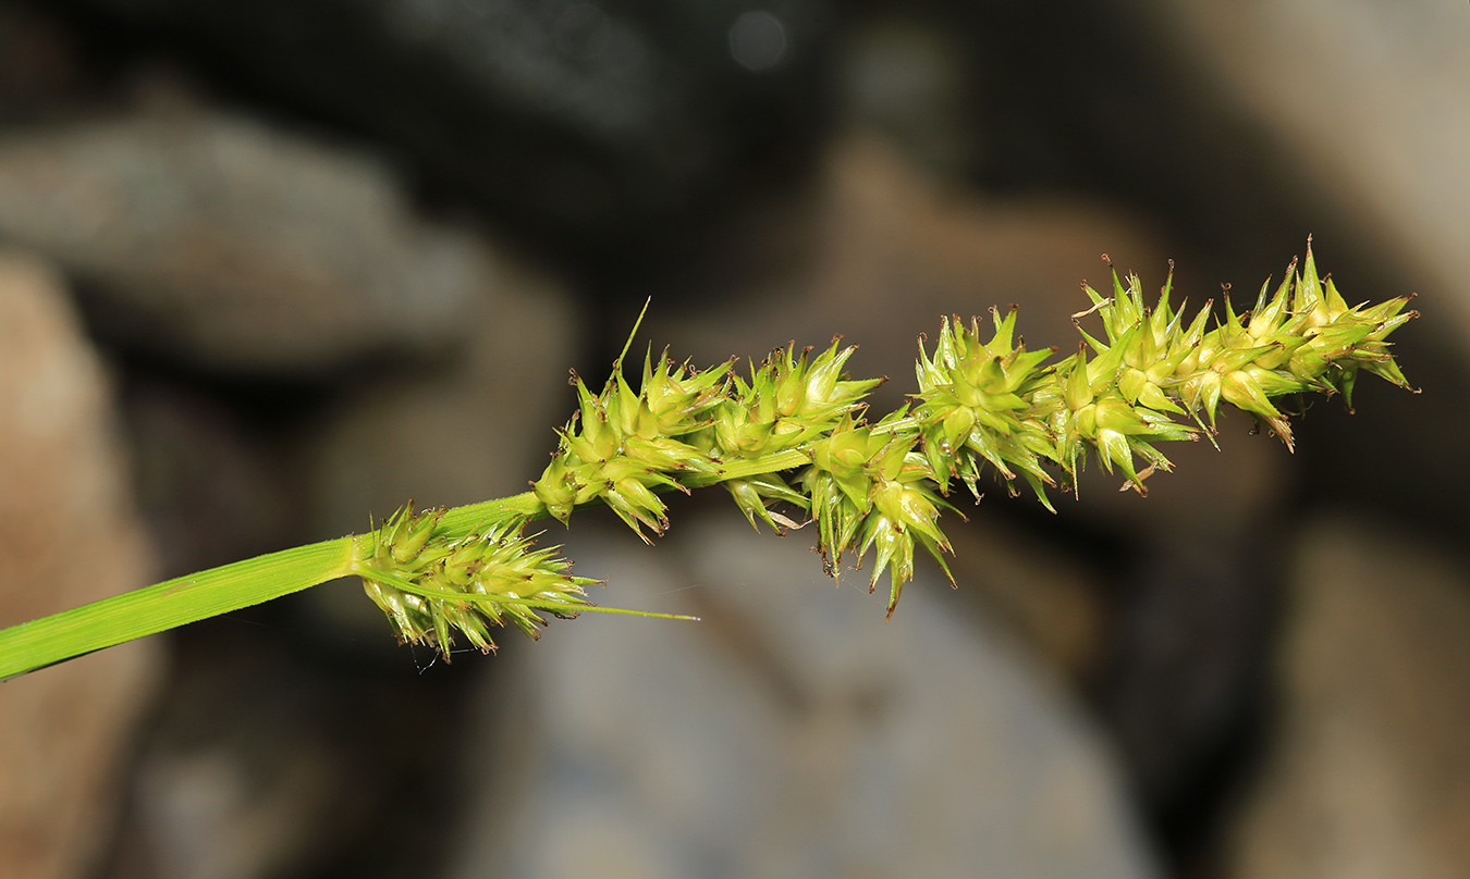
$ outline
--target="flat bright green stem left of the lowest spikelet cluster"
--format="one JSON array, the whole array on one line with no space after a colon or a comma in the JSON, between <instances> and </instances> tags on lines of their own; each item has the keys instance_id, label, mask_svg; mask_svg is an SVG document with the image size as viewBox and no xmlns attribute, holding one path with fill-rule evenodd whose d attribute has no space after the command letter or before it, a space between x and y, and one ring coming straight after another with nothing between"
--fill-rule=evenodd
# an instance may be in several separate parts
<instances>
[{"instance_id":1,"label":"flat bright green stem left of the lowest spikelet cluster","mask_svg":"<svg viewBox=\"0 0 1470 879\"><path fill-rule=\"evenodd\" d=\"M351 537L175 577L0 630L0 681L351 574Z\"/></svg>"}]
</instances>

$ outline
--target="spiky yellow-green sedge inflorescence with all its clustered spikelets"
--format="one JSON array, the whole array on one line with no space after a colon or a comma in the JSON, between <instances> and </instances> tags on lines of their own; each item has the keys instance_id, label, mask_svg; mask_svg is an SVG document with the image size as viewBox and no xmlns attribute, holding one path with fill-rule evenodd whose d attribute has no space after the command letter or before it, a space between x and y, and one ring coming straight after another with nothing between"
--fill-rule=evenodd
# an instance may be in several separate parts
<instances>
[{"instance_id":1,"label":"spiky yellow-green sedge inflorescence with all its clustered spikelets","mask_svg":"<svg viewBox=\"0 0 1470 879\"><path fill-rule=\"evenodd\" d=\"M1060 360L1051 348L1026 349L1014 307L992 310L988 326L945 318L932 352L920 340L917 392L878 420L866 399L882 380L850 379L854 348L836 339L820 352L778 349L748 376L734 361L698 370L650 352L637 389L625 349L601 392L573 374L578 411L532 483L535 512L457 536L440 530L435 514L401 511L363 540L365 584L400 638L447 650L462 632L488 650L487 624L509 621L534 635L538 609L566 616L591 608L582 587L592 581L570 577L550 550L532 550L526 519L566 524L576 508L606 505L650 541L669 527L663 493L719 483L757 528L814 524L833 577L844 558L872 552L869 591L886 571L891 616L916 547L950 575L939 514L954 511L956 483L978 500L982 474L994 470L1008 492L1025 481L1051 509L1048 489L1075 492L1095 458L1144 493L1151 473L1172 467L1157 443L1214 442L1222 404L1291 448L1276 399L1322 392L1351 405L1363 371L1408 387L1386 340L1416 317L1408 299L1348 307L1319 276L1310 241L1301 271L1294 260L1250 311L1226 302L1223 321L1210 302L1192 317L1175 310L1172 286L1172 264L1152 305L1135 274L1113 271L1111 296L1083 285L1092 308L1075 318L1078 351ZM1094 313L1098 335L1080 323Z\"/></svg>"}]
</instances>

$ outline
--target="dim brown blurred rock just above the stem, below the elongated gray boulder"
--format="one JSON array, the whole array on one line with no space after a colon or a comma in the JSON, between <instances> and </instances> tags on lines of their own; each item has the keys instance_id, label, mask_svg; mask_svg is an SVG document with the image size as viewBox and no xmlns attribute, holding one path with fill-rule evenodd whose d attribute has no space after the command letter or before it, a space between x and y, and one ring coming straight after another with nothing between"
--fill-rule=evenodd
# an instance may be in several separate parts
<instances>
[{"instance_id":1,"label":"dim brown blurred rock just above the stem, below the elongated gray boulder","mask_svg":"<svg viewBox=\"0 0 1470 879\"><path fill-rule=\"evenodd\" d=\"M312 452L315 527L362 530L409 499L459 506L519 495L541 475L576 406L572 299L554 276L495 260L495 293L467 310L440 362L351 387Z\"/></svg>"}]
</instances>

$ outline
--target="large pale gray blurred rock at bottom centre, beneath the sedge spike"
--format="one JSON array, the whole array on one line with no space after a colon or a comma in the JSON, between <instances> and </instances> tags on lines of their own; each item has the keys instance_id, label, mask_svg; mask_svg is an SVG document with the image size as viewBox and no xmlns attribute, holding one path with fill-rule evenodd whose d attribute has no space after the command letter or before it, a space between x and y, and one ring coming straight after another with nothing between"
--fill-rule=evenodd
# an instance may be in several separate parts
<instances>
[{"instance_id":1,"label":"large pale gray blurred rock at bottom centre, beneath the sedge spike","mask_svg":"<svg viewBox=\"0 0 1470 879\"><path fill-rule=\"evenodd\" d=\"M597 600L703 622L513 652L453 876L1155 875L1091 725L933 572L883 625L804 533L678 522L653 550L578 522Z\"/></svg>"}]
</instances>

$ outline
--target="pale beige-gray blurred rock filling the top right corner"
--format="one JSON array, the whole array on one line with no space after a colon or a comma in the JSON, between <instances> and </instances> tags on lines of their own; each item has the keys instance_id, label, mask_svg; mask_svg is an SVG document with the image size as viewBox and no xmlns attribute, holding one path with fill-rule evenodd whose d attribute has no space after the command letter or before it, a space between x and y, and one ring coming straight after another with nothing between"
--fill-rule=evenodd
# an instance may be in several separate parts
<instances>
[{"instance_id":1,"label":"pale beige-gray blurred rock filling the top right corner","mask_svg":"<svg viewBox=\"0 0 1470 879\"><path fill-rule=\"evenodd\" d=\"M1455 3L1142 0L1299 178L1470 327L1470 19ZM1382 258L1380 258L1382 260ZM1401 295L1407 291L1391 291ZM1430 291L1423 289L1423 293Z\"/></svg>"}]
</instances>

